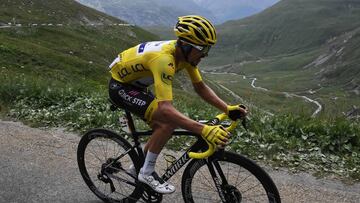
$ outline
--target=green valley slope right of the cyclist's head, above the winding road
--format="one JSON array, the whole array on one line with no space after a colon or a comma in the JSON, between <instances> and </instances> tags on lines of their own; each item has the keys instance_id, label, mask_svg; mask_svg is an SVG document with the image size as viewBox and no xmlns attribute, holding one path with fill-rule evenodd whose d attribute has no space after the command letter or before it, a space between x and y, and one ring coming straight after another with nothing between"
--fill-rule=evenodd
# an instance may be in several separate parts
<instances>
[{"instance_id":1,"label":"green valley slope right of the cyclist's head, above the winding road","mask_svg":"<svg viewBox=\"0 0 360 203\"><path fill-rule=\"evenodd\" d=\"M318 116L342 116L360 101L358 19L360 1L282 0L217 26L218 44L202 65L239 74L212 79L271 112L311 115L317 105L306 96L322 105Z\"/></svg>"}]
</instances>

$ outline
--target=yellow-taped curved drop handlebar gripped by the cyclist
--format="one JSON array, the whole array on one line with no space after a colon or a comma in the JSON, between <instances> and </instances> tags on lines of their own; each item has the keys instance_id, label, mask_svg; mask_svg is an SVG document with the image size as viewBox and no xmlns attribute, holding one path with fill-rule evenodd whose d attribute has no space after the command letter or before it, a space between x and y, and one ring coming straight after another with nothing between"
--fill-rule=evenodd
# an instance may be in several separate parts
<instances>
[{"instance_id":1,"label":"yellow-taped curved drop handlebar gripped by the cyclist","mask_svg":"<svg viewBox=\"0 0 360 203\"><path fill-rule=\"evenodd\" d=\"M227 119L228 116L225 114L225 113L222 113L222 114L219 114L217 115L213 120L211 120L209 123L213 124L213 125L216 125L218 123L220 123L221 121L224 121L225 119ZM245 123L244 123L245 119L243 120L243 126L245 127ZM237 121L232 121L230 126L225 128L228 132L231 132L233 131L236 126L238 125L239 123L239 120ZM205 140L206 141L206 140ZM193 159L205 159L209 156L211 156L214 152L215 152L215 149L216 149L216 145L215 144L212 144L208 141L206 141L206 143L208 144L209 148L208 150L206 150L205 152L189 152L189 157L190 158L193 158Z\"/></svg>"}]
</instances>

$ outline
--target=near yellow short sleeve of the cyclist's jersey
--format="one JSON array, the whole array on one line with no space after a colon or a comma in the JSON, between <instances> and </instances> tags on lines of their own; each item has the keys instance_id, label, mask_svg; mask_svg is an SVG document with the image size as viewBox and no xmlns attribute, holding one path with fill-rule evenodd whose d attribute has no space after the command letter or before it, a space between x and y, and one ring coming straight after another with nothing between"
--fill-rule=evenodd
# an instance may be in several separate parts
<instances>
[{"instance_id":1,"label":"near yellow short sleeve of the cyclist's jersey","mask_svg":"<svg viewBox=\"0 0 360 203\"><path fill-rule=\"evenodd\" d=\"M162 55L150 62L154 78L155 96L158 101L172 100L172 82L175 75L175 62L172 56Z\"/></svg>"}]
</instances>

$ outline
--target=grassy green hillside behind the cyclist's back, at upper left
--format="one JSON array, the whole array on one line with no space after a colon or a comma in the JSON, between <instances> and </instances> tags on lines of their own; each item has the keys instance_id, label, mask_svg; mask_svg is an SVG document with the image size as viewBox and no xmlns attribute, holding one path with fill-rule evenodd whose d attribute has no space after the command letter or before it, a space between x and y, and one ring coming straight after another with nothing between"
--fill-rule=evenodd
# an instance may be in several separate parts
<instances>
[{"instance_id":1,"label":"grassy green hillside behind the cyclist's back, at upper left","mask_svg":"<svg viewBox=\"0 0 360 203\"><path fill-rule=\"evenodd\" d=\"M0 29L2 77L104 84L122 49L156 39L72 0L3 1L0 16L0 24L22 25Z\"/></svg>"}]
</instances>

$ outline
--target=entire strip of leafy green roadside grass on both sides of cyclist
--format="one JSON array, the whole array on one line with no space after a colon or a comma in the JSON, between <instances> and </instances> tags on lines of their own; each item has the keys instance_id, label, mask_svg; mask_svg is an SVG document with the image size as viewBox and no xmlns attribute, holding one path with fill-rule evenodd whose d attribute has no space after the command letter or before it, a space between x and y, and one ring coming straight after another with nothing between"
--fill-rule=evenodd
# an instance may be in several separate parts
<instances>
[{"instance_id":1,"label":"entire strip of leafy green roadside grass on both sides of cyclist","mask_svg":"<svg viewBox=\"0 0 360 203\"><path fill-rule=\"evenodd\" d=\"M1 78L2 114L32 126L65 127L84 132L104 127L121 132L121 112L112 112L105 87L62 85L43 80ZM191 92L174 91L174 105L193 119L211 118L218 113ZM8 109L8 110L6 110ZM6 111L6 112L4 112ZM344 180L359 181L359 121L344 118L321 119L307 115L268 116L256 108L249 115L249 131L240 128L231 150L292 171L336 174ZM137 126L145 124L137 120ZM180 149L192 141L174 137L168 147Z\"/></svg>"}]
</instances>

